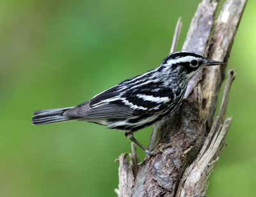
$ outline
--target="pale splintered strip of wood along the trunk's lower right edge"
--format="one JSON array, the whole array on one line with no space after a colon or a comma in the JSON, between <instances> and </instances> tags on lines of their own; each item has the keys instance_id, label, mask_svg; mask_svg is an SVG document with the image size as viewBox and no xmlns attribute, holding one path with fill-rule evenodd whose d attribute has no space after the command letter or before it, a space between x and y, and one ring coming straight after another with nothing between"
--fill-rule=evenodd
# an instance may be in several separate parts
<instances>
[{"instance_id":1,"label":"pale splintered strip of wood along the trunk's lower right edge","mask_svg":"<svg viewBox=\"0 0 256 197\"><path fill-rule=\"evenodd\" d=\"M221 150L225 147L225 136L232 120L230 117L225 120L225 113L228 105L228 93L235 77L234 71L230 70L220 112L212 125L211 131L207 135L202 149L193 163L188 166L182 179L180 179L176 196L204 196L206 194L208 177L214 168L214 164L219 159Z\"/></svg>"}]
</instances>

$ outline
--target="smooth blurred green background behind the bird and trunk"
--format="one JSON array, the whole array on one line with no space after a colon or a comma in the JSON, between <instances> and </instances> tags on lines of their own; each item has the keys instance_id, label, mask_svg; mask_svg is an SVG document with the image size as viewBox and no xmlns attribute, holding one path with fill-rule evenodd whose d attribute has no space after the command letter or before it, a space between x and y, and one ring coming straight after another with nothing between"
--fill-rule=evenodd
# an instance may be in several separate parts
<instances>
[{"instance_id":1,"label":"smooth blurred green background behind the bird and trunk","mask_svg":"<svg viewBox=\"0 0 256 197\"><path fill-rule=\"evenodd\" d=\"M156 68L179 16L180 50L200 1L0 2L0 196L116 196L114 160L130 151L124 134L87 122L32 126L33 112L79 104ZM249 1L230 54L234 120L209 196L256 193L255 8ZM136 136L147 145L150 131Z\"/></svg>"}]
</instances>

